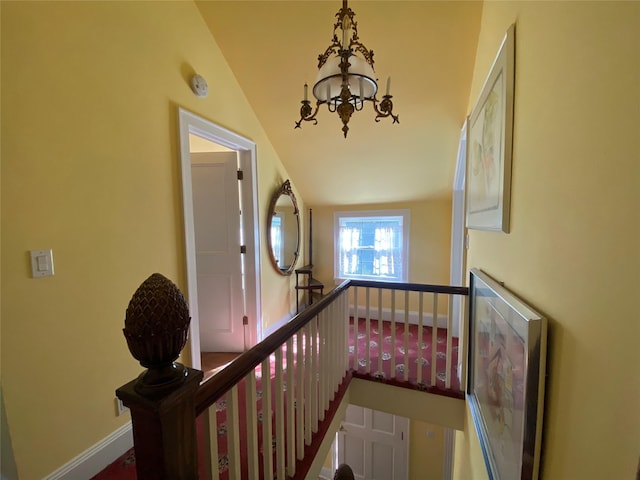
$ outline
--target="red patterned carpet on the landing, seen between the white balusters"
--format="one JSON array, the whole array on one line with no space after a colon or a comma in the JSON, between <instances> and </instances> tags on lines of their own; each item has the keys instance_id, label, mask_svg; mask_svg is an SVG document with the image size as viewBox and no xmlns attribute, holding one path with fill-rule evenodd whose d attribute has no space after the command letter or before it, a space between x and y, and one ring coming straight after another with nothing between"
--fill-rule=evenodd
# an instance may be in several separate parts
<instances>
[{"instance_id":1,"label":"red patterned carpet on the landing, seen between the white balusters","mask_svg":"<svg viewBox=\"0 0 640 480\"><path fill-rule=\"evenodd\" d=\"M416 387L417 382L417 372L419 366L422 368L422 377L421 384L425 387L435 387L437 390L442 391L446 394L447 390L445 389L445 371L446 371L446 349L447 349L447 331L445 329L438 329L438 334L436 338L436 381L435 384L432 385L429 381L431 377L431 365L432 365L432 328L431 327L423 327L422 335L420 336L418 333L417 325L409 325L407 331L407 345L405 349L405 326L404 324L397 323L395 325L395 344L392 348L392 335L391 335L391 322L384 321L382 322L382 349L380 349L380 331L377 320L371 320L370 322L371 333L369 336L369 345L367 346L367 336L366 336L366 322L364 319L360 319L358 321L357 328L357 352L358 358L357 369L354 368L354 352L356 348L354 347L353 338L354 338L354 328L353 321L350 326L350 347L349 347L349 366L354 370L354 373L360 377L366 377L368 375L375 376L378 374L378 378L380 377L378 371L378 359L381 356L382 360L382 369L381 372L383 374L384 381L389 381L395 384L402 384L404 382L404 364L405 364L405 351L408 355L408 384L410 386ZM452 338L452 361L451 361L451 389L454 394L459 390L459 381L456 376L456 367L457 367L457 357L458 357L458 339L456 337ZM371 364L370 373L366 373L366 352L367 349L369 351L369 361ZM394 374L391 374L391 356L395 355L396 366ZM286 358L286 357L285 357ZM284 366L286 368L286 365ZM274 377L274 358L271 358L271 378ZM262 373L258 369L256 373L257 378L257 408L258 408L258 444L262 445L262 389L261 389L261 377ZM284 386L286 390L286 384ZM244 405L244 382L239 385L239 405L242 409ZM273 388L272 388L272 394ZM272 398L272 405L274 405L275 398ZM215 403L216 409L216 419L218 426L218 453L219 453L219 463L218 463L218 471L220 478L222 480L228 480L229 478L229 464L227 457L227 425L226 425L226 400L225 398L221 398ZM241 410L242 412L242 410ZM201 422L199 422L198 434L199 434L199 450L202 453L204 450L204 429L202 428ZM245 431L246 429L246 418L244 415L240 415L240 428L241 431ZM275 432L275 429L273 429ZM272 439L274 441L275 439ZM241 451L246 452L246 438L241 436ZM243 466L243 478L247 477L246 471L246 461L241 457L241 465ZM200 478L209 478L208 473L206 472L206 468L204 466L204 462L200 462ZM260 467L262 469L262 466ZM111 465L109 465L105 470L100 472L98 475L93 477L91 480L135 480L136 479L136 470L135 470L135 453L133 449L126 452L116 461L114 461Z\"/></svg>"}]
</instances>

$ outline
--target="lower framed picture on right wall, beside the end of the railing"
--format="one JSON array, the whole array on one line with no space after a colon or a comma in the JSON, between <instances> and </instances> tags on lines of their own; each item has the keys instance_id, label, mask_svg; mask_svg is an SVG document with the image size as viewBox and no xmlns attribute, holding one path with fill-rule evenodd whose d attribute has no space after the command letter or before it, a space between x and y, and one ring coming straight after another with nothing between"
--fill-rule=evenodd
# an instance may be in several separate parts
<instances>
[{"instance_id":1,"label":"lower framed picture on right wall, beside the end of the railing","mask_svg":"<svg viewBox=\"0 0 640 480\"><path fill-rule=\"evenodd\" d=\"M536 480L547 351L544 317L491 277L470 279L467 398L491 480Z\"/></svg>"}]
</instances>

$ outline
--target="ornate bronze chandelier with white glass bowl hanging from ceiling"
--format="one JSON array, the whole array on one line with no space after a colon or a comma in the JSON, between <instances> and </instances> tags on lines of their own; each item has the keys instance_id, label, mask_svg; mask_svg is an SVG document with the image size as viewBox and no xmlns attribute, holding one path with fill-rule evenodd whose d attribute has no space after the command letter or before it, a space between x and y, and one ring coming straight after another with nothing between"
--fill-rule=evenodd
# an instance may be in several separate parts
<instances>
[{"instance_id":1,"label":"ornate bronze chandelier with white glass bowl hanging from ceiling","mask_svg":"<svg viewBox=\"0 0 640 480\"><path fill-rule=\"evenodd\" d=\"M321 105L326 104L330 112L337 112L342 120L342 132L347 138L349 120L353 112L364 108L365 102L371 102L376 111L375 121L391 117L393 123L400 123L398 115L393 114L391 101L391 77L387 79L387 90L378 101L378 83L373 71L373 50L360 42L358 24L354 21L355 13L342 0L342 8L336 13L338 18L333 26L331 45L324 53L318 55L318 76L312 93L316 98L315 110L311 107L308 96L308 85L304 84L304 100L300 107L300 120L295 128L300 128L303 121L318 123L316 115ZM341 35L338 36L338 29Z\"/></svg>"}]
</instances>

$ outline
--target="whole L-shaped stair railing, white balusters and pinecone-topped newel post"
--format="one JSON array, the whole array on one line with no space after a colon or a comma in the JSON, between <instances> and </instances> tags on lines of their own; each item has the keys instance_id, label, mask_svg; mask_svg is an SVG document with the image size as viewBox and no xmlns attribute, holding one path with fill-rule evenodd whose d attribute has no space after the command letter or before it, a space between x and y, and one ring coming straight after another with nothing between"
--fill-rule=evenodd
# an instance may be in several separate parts
<instances>
[{"instance_id":1,"label":"whole L-shaped stair railing, white balusters and pinecone-topped newel post","mask_svg":"<svg viewBox=\"0 0 640 480\"><path fill-rule=\"evenodd\" d=\"M152 275L134 294L124 329L147 370L116 391L131 411L138 480L305 478L352 375L463 396L464 369L457 369L461 378L452 373L456 362L465 364L452 298L466 295L464 287L345 281L202 381L203 372L175 363L186 342L186 302L169 280ZM412 378L407 336L422 338L428 329L433 367ZM394 373L385 378L384 349L374 364L368 348L358 351L358 337L365 345L395 344L398 332L405 353L391 355ZM445 367L437 367L443 352ZM221 430L226 449L218 444Z\"/></svg>"}]
</instances>

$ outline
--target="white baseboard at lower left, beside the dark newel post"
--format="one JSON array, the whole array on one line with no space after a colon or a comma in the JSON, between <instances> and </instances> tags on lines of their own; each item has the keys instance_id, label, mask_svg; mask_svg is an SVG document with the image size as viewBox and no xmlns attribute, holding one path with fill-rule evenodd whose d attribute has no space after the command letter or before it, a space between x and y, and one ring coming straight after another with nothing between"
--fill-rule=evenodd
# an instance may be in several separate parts
<instances>
[{"instance_id":1,"label":"white baseboard at lower left, beside the dark newel post","mask_svg":"<svg viewBox=\"0 0 640 480\"><path fill-rule=\"evenodd\" d=\"M131 422L88 448L44 480L87 480L111 465L133 446Z\"/></svg>"}]
</instances>

